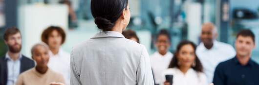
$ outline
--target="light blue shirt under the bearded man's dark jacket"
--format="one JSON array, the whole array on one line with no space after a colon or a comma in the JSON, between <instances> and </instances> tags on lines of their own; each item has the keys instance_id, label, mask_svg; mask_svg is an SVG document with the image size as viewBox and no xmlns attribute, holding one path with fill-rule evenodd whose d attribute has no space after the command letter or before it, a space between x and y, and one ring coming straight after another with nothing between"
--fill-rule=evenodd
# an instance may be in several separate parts
<instances>
[{"instance_id":1,"label":"light blue shirt under the bearded man's dark jacket","mask_svg":"<svg viewBox=\"0 0 259 85\"><path fill-rule=\"evenodd\" d=\"M19 58L17 60L13 61L8 53L6 53L5 59L7 59L8 68L7 85L14 85L17 77L20 74L22 54L19 55Z\"/></svg>"}]
</instances>

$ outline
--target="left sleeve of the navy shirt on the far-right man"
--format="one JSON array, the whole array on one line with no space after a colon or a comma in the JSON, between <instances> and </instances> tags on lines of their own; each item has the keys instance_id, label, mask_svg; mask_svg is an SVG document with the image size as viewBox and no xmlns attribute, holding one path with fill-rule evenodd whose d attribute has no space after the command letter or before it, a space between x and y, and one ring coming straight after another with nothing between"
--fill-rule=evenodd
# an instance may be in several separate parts
<instances>
[{"instance_id":1,"label":"left sleeve of the navy shirt on the far-right man","mask_svg":"<svg viewBox=\"0 0 259 85\"><path fill-rule=\"evenodd\" d=\"M218 64L215 69L213 83L215 85L225 85L224 69L221 64Z\"/></svg>"}]
</instances>

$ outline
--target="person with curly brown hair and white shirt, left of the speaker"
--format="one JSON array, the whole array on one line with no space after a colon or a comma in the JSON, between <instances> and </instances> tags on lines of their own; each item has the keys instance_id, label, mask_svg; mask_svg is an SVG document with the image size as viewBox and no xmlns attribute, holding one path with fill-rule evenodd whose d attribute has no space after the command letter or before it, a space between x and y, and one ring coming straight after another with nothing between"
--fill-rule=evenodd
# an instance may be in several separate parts
<instances>
[{"instance_id":1,"label":"person with curly brown hair and white shirt, left of the speaker","mask_svg":"<svg viewBox=\"0 0 259 85\"><path fill-rule=\"evenodd\" d=\"M49 46L48 67L61 73L66 85L70 85L70 54L61 49L65 42L65 31L61 27L50 26L43 31L42 41Z\"/></svg>"}]
</instances>

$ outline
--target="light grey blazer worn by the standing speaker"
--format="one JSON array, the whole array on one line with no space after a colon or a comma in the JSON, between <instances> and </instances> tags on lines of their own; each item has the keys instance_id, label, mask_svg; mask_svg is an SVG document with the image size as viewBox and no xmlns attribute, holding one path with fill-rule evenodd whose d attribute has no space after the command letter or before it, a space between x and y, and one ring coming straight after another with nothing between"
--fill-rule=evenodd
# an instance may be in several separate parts
<instances>
[{"instance_id":1,"label":"light grey blazer worn by the standing speaker","mask_svg":"<svg viewBox=\"0 0 259 85\"><path fill-rule=\"evenodd\" d=\"M154 85L145 46L118 32L100 32L73 47L70 67L71 85Z\"/></svg>"}]
</instances>

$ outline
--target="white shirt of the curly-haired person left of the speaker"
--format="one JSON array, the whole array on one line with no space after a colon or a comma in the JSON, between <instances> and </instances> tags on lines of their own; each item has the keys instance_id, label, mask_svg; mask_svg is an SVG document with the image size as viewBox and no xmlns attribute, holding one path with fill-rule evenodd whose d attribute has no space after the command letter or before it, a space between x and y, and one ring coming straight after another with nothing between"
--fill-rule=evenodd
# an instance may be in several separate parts
<instances>
[{"instance_id":1,"label":"white shirt of the curly-haired person left of the speaker","mask_svg":"<svg viewBox=\"0 0 259 85\"><path fill-rule=\"evenodd\" d=\"M70 54L60 49L56 55L49 51L49 55L48 67L61 73L65 79L65 85L70 85Z\"/></svg>"}]
</instances>

